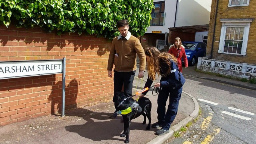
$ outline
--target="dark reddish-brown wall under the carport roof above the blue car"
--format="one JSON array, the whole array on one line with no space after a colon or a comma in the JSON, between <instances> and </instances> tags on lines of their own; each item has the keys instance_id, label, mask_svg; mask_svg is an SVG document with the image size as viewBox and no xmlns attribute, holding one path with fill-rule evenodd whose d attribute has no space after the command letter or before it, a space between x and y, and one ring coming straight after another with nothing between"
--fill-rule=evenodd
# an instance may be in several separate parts
<instances>
[{"instance_id":1,"label":"dark reddish-brown wall under the carport roof above the blue car","mask_svg":"<svg viewBox=\"0 0 256 144\"><path fill-rule=\"evenodd\" d=\"M169 31L168 43L174 44L174 39L177 37L181 38L181 41L195 41L196 34L182 31Z\"/></svg>"}]
</instances>

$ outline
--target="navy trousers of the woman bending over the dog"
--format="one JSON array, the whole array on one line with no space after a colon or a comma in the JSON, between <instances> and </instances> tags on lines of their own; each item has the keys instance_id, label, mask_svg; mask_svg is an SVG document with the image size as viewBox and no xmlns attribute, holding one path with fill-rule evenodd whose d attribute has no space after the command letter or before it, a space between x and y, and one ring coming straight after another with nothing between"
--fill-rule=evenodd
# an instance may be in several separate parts
<instances>
[{"instance_id":1,"label":"navy trousers of the woman bending over the dog","mask_svg":"<svg viewBox=\"0 0 256 144\"><path fill-rule=\"evenodd\" d=\"M157 119L159 123L162 123L163 129L169 129L170 125L174 121L179 106L179 100L181 98L182 87L178 90L171 89L169 87L160 88L157 98ZM166 101L169 97L169 105L166 112ZM166 113L165 113L166 112Z\"/></svg>"}]
</instances>

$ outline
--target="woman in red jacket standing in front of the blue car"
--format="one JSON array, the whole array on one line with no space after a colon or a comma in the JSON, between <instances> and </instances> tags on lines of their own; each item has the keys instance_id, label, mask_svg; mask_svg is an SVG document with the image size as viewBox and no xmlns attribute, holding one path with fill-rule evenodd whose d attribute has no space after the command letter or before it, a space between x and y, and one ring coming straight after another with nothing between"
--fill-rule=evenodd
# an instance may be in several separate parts
<instances>
[{"instance_id":1,"label":"woman in red jacket standing in front of the blue car","mask_svg":"<svg viewBox=\"0 0 256 144\"><path fill-rule=\"evenodd\" d=\"M170 46L168 53L173 54L178 60L179 71L182 72L182 61L183 58L185 68L188 67L188 59L185 53L184 46L181 43L181 39L179 37L175 38L174 44Z\"/></svg>"}]
</instances>

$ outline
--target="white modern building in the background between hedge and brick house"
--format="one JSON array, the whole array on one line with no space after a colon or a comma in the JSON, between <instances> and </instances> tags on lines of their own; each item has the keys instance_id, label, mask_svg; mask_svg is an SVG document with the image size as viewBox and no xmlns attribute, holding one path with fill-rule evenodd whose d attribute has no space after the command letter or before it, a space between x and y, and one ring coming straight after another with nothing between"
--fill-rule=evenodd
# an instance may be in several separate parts
<instances>
[{"instance_id":1,"label":"white modern building in the background between hedge and brick house","mask_svg":"<svg viewBox=\"0 0 256 144\"><path fill-rule=\"evenodd\" d=\"M208 25L212 0L154 0L152 20L146 34L141 38L144 46L157 46L157 40L168 44L170 37L177 37L175 32L169 34L169 28L186 26ZM188 40L207 41L207 29L189 35ZM192 35L192 36L191 36ZM182 40L183 41L183 40ZM184 39L186 41L186 39Z\"/></svg>"}]
</instances>

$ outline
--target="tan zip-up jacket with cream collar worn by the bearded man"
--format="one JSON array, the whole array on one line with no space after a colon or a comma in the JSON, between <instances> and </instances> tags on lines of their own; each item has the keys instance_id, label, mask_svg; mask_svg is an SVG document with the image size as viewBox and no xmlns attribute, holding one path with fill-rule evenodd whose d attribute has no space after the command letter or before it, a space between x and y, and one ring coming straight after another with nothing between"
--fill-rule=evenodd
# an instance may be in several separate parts
<instances>
[{"instance_id":1,"label":"tan zip-up jacket with cream collar worn by the bearded man","mask_svg":"<svg viewBox=\"0 0 256 144\"><path fill-rule=\"evenodd\" d=\"M137 69L136 57L140 58L139 71L146 71L146 55L140 40L128 31L127 36L122 40L121 35L113 38L110 48L107 70L112 71L115 64L115 71L131 72Z\"/></svg>"}]
</instances>

